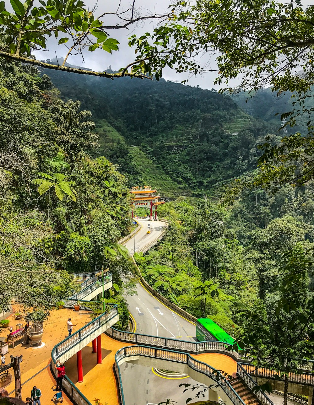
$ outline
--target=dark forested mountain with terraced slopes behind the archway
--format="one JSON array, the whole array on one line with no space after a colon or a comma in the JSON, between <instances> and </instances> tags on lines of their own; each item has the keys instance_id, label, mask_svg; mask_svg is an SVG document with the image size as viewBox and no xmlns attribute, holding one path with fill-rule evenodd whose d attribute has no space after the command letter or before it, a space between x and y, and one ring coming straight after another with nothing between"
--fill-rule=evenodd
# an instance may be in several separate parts
<instances>
[{"instance_id":1,"label":"dark forested mountain with terraced slopes behind the archway","mask_svg":"<svg viewBox=\"0 0 314 405\"><path fill-rule=\"evenodd\" d=\"M128 175L168 197L203 195L254 168L271 128L229 96L170 81L119 81L46 72L64 100L92 111L100 149Z\"/></svg>"}]
</instances>

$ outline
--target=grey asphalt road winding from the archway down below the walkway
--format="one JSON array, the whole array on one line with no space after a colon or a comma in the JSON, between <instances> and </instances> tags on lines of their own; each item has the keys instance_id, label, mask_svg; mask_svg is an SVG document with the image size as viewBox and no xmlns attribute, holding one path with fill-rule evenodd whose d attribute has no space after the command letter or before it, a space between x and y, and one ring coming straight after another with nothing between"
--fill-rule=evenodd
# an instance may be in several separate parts
<instances>
[{"instance_id":1,"label":"grey asphalt road winding from the archway down below the walkway","mask_svg":"<svg viewBox=\"0 0 314 405\"><path fill-rule=\"evenodd\" d=\"M141 252L148 243L158 240L160 233L167 226L160 221L139 220L141 230L135 234L135 252ZM147 234L148 224L151 233ZM124 246L130 254L134 253L134 239L129 239ZM196 341L195 325L166 307L148 292L140 283L136 286L137 295L127 296L128 309L136 322L136 332L145 335L168 337L173 339ZM172 379L154 374L152 368L125 363L121 366L122 385L126 405L158 404L167 398L185 404L192 392L182 393L180 383L197 384L190 377ZM197 399L191 401L195 402Z\"/></svg>"}]
</instances>

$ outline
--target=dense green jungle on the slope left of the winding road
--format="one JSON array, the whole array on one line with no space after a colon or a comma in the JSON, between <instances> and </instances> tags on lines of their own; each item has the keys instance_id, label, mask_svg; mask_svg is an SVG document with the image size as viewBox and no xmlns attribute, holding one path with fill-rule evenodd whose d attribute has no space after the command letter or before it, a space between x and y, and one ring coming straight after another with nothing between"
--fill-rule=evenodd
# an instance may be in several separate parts
<instances>
[{"instance_id":1,"label":"dense green jungle on the slope left of the winding road","mask_svg":"<svg viewBox=\"0 0 314 405\"><path fill-rule=\"evenodd\" d=\"M0 60L0 312L12 297L46 307L77 288L70 273L110 267L122 299L125 178L97 147L90 111L64 102L36 68ZM122 317L123 318L123 317Z\"/></svg>"}]
</instances>

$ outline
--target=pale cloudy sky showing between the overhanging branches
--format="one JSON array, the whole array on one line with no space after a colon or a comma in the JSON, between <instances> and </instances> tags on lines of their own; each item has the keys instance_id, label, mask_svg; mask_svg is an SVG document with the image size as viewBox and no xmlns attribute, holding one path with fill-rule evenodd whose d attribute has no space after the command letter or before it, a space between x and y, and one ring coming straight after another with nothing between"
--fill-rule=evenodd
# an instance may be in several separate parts
<instances>
[{"instance_id":1,"label":"pale cloudy sky showing between the overhanging branches","mask_svg":"<svg viewBox=\"0 0 314 405\"><path fill-rule=\"evenodd\" d=\"M114 0L110 2L105 0L98 0L97 9L95 11L95 15L98 17L99 15L107 12L115 12L119 1ZM135 5L137 10L142 15L152 15L152 14L163 14L167 12L167 7L171 3L170 0L136 0ZM95 5L95 0L85 0L85 4L88 6L89 9L92 9ZM121 0L120 12L126 11L130 7L130 0ZM113 15L106 15L101 19L106 26L108 25L115 25L118 23L118 19L116 16ZM134 49L131 49L128 46L128 36L132 35L133 33L141 34L145 32L152 32L152 30L156 27L156 21L149 20L145 23L141 23L139 26L131 26L129 30L108 30L108 33L113 37L116 38L119 42L119 51L113 52L111 55L103 50L96 50L94 52L84 52L85 64L82 62L82 58L80 55L70 56L68 58L68 62L70 64L75 64L79 66L86 66L88 68L92 68L96 71L101 71L107 69L108 66L111 66L113 70L118 70L121 67L126 66L126 64L132 62L134 60ZM55 58L55 51L57 52L58 57L64 57L66 55L67 49L64 45L56 46L56 40L52 39L49 43L49 50L47 52L38 52L36 53L36 58L40 59L52 59ZM207 54L203 57L203 60L200 60L201 64L208 64L210 69L216 69L216 62L215 59L212 58L210 60L210 55ZM177 74L174 70L165 69L163 71L163 77L166 80L171 81L182 81L187 79L188 76L186 74ZM192 86L200 85L204 89L211 89L211 88L218 88L214 86L213 81L216 77L215 72L205 73L202 76L192 77L188 84ZM236 83L235 83L236 84Z\"/></svg>"}]
</instances>

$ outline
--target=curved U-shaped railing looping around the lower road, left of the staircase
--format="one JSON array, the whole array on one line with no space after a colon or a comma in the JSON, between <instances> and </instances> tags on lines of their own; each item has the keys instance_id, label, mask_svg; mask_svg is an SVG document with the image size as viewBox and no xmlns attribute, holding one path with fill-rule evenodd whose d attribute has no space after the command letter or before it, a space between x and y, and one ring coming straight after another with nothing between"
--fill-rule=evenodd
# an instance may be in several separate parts
<instances>
[{"instance_id":1,"label":"curved U-shaped railing looping around the lower road, left of the staircase","mask_svg":"<svg viewBox=\"0 0 314 405\"><path fill-rule=\"evenodd\" d=\"M144 356L150 358L159 358L162 360L167 360L171 362L183 363L188 364L188 366L199 373L203 373L207 375L207 377L211 378L217 384L219 384L220 388L225 392L225 394L229 397L231 402L235 405L245 405L244 401L241 399L239 394L234 390L231 386L230 382L226 377L224 377L219 371L210 367L208 364L205 364L201 361L198 361L192 358L187 353L180 353L176 351L166 350L166 349L158 349L153 347L147 346L130 346L130 347L123 347L122 349L118 350L115 354L115 371L117 372L119 388L120 388L120 399L122 405L124 405L124 394L122 388L122 379L120 373L119 363L122 362L124 358L132 357L132 356Z\"/></svg>"}]
</instances>

